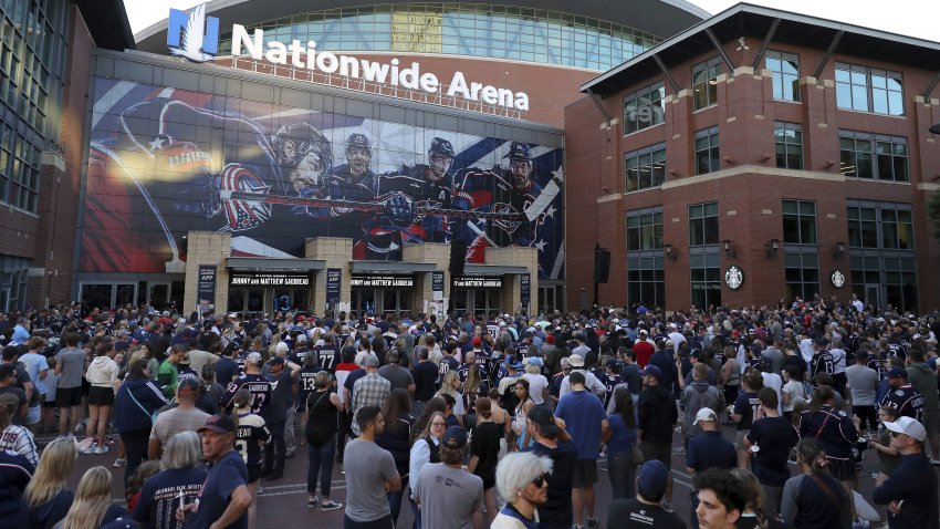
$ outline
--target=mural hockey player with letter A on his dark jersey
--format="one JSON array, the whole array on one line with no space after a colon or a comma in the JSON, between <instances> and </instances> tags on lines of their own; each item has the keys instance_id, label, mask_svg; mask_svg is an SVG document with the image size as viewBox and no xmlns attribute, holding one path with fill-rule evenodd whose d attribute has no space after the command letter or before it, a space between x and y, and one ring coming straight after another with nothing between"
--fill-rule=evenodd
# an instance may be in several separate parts
<instances>
[{"instance_id":1,"label":"mural hockey player with letter A on his dark jersey","mask_svg":"<svg viewBox=\"0 0 940 529\"><path fill-rule=\"evenodd\" d=\"M435 137L427 164L403 165L376 177L376 199L385 210L366 222L354 259L399 260L406 242L450 242L447 216L428 210L451 208L453 156L453 145Z\"/></svg>"}]
</instances>

